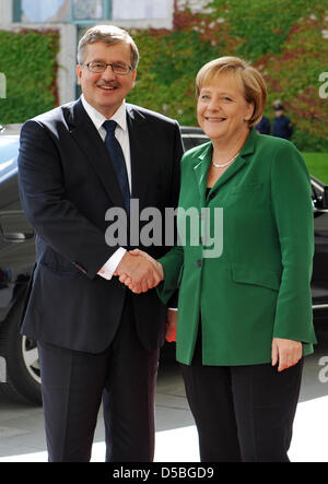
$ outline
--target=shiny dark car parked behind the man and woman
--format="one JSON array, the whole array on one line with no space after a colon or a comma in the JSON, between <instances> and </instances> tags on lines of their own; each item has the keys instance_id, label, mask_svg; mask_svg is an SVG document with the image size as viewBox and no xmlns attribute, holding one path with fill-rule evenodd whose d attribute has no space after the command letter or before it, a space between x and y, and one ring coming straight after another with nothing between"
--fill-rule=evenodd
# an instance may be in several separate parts
<instances>
[{"instance_id":1,"label":"shiny dark car parked behind the man and woman","mask_svg":"<svg viewBox=\"0 0 328 484\"><path fill-rule=\"evenodd\" d=\"M0 391L40 404L35 341L20 334L21 314L35 263L34 232L19 199L19 128L0 134ZM208 141L199 128L181 128L185 149ZM328 322L328 187L312 177L316 252L312 282L316 321Z\"/></svg>"}]
</instances>

